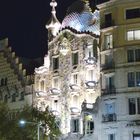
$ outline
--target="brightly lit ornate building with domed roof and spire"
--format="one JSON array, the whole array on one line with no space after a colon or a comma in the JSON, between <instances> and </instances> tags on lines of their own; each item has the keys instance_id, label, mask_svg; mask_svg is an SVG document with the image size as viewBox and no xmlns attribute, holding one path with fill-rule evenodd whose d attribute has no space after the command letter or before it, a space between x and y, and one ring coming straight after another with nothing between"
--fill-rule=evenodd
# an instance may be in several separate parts
<instances>
[{"instance_id":1,"label":"brightly lit ornate building with domed roof and spire","mask_svg":"<svg viewBox=\"0 0 140 140\"><path fill-rule=\"evenodd\" d=\"M41 110L49 106L63 139L82 139L93 134L92 112L86 109L93 109L100 94L99 12L92 13L88 2L78 0L60 23L57 3L50 5L48 54L35 69L34 104Z\"/></svg>"}]
</instances>

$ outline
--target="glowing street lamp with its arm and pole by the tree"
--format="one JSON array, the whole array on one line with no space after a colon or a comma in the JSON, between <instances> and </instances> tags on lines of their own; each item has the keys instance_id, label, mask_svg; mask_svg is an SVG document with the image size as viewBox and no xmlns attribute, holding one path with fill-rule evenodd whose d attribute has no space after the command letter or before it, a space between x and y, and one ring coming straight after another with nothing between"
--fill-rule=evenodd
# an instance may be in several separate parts
<instances>
[{"instance_id":1,"label":"glowing street lamp with its arm and pole by the tree","mask_svg":"<svg viewBox=\"0 0 140 140\"><path fill-rule=\"evenodd\" d=\"M28 121L25 121L25 120L20 120L19 121L19 124L21 125L25 125L25 124L35 124L37 125L37 140L40 139L40 126L41 126L41 122L37 123L37 122L28 122Z\"/></svg>"}]
</instances>

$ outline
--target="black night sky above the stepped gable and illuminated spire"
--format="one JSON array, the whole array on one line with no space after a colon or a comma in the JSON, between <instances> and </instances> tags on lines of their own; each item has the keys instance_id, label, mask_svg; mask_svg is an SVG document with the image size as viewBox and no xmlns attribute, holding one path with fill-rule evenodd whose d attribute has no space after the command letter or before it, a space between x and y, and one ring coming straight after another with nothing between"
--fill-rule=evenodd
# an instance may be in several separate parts
<instances>
[{"instance_id":1,"label":"black night sky above the stepped gable and illuminated spire","mask_svg":"<svg viewBox=\"0 0 140 140\"><path fill-rule=\"evenodd\" d=\"M17 56L43 57L47 53L45 24L51 16L51 0L0 0L0 38L8 37ZM75 0L56 0L62 21ZM91 0L95 1L95 0Z\"/></svg>"}]
</instances>

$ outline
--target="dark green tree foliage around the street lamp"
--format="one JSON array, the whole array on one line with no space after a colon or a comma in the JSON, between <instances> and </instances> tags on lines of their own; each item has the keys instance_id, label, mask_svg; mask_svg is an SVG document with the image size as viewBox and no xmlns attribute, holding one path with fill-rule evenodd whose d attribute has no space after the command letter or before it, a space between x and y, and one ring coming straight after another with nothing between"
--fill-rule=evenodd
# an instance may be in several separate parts
<instances>
[{"instance_id":1,"label":"dark green tree foliage around the street lamp","mask_svg":"<svg viewBox=\"0 0 140 140\"><path fill-rule=\"evenodd\" d=\"M40 140L51 137L55 139L59 134L55 116L49 111L39 111L37 108L25 106L11 118L11 111L4 103L0 103L0 140L36 140L37 124L40 123ZM25 120L25 125L19 124Z\"/></svg>"}]
</instances>

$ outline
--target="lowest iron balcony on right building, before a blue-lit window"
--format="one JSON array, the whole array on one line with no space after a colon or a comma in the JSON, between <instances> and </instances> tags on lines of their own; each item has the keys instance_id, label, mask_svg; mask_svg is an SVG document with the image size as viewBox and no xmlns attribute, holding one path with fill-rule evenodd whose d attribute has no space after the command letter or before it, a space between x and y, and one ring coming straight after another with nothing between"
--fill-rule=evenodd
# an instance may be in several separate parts
<instances>
[{"instance_id":1,"label":"lowest iron balcony on right building, before a blue-lit window","mask_svg":"<svg viewBox=\"0 0 140 140\"><path fill-rule=\"evenodd\" d=\"M116 120L117 120L116 113L102 115L102 121L103 122L114 122Z\"/></svg>"}]
</instances>

